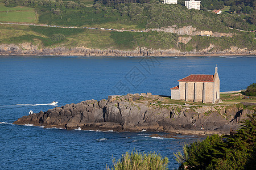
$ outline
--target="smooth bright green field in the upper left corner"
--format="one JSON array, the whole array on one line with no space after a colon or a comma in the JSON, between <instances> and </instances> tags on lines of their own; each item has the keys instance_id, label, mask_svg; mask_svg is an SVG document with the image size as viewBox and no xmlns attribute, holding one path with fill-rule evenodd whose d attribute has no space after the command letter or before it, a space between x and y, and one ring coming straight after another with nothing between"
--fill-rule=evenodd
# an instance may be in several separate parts
<instances>
[{"instance_id":1,"label":"smooth bright green field in the upper left corner","mask_svg":"<svg viewBox=\"0 0 256 170\"><path fill-rule=\"evenodd\" d=\"M0 22L36 23L37 15L34 8L5 7L0 3Z\"/></svg>"}]
</instances>

